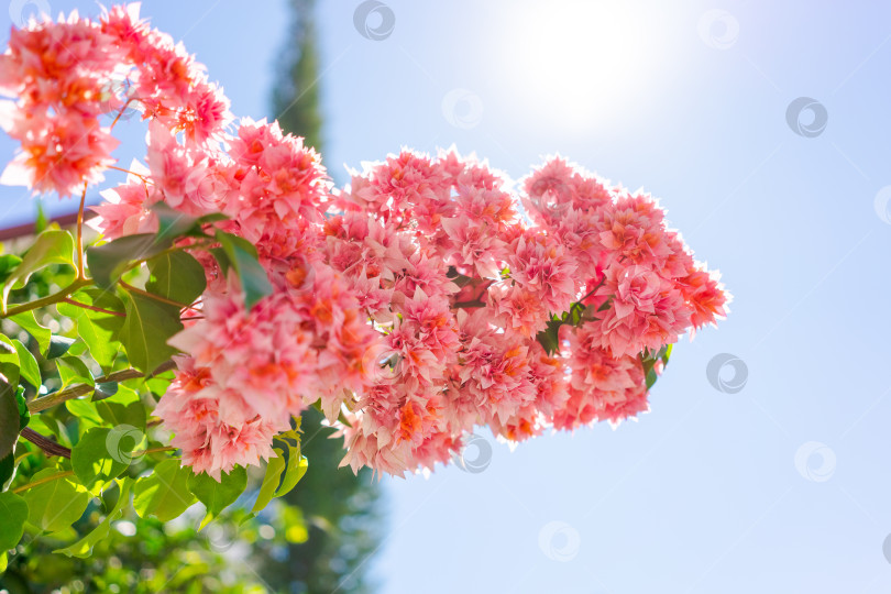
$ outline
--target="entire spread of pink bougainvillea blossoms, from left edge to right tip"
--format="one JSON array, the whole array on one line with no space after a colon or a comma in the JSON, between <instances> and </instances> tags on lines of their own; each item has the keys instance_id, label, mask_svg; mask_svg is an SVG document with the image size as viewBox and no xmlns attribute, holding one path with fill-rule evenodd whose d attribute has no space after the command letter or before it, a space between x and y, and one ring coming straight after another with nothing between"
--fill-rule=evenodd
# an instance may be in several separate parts
<instances>
[{"instance_id":1,"label":"entire spread of pink bougainvillea blossoms, from left edge to right tip","mask_svg":"<svg viewBox=\"0 0 891 594\"><path fill-rule=\"evenodd\" d=\"M107 239L154 231L165 202L222 212L256 246L273 293L250 310L191 249L208 288L155 414L196 472L258 464L308 406L340 428L343 464L396 475L448 463L477 426L520 441L617 424L648 409L654 353L726 312L650 196L560 157L514 190L473 157L404 150L332 189L277 123L230 125L220 90L133 6L13 31L0 90L19 97L0 119L22 143L13 165L63 196L113 163L99 117L140 107L145 164L102 194Z\"/></svg>"}]
</instances>

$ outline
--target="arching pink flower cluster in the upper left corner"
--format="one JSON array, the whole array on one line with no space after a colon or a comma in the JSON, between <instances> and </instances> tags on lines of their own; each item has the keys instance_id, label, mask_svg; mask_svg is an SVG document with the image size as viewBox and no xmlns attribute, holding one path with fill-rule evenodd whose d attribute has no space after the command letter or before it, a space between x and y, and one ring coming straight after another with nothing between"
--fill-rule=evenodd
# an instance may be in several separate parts
<instances>
[{"instance_id":1,"label":"arching pink flower cluster in the upper left corner","mask_svg":"<svg viewBox=\"0 0 891 594\"><path fill-rule=\"evenodd\" d=\"M132 106L195 145L220 138L231 120L221 89L182 44L139 19L139 4L98 22L73 12L13 29L0 95L16 98L3 101L0 128L21 143L2 182L61 196L101 182L114 163L119 142L102 116Z\"/></svg>"}]
</instances>

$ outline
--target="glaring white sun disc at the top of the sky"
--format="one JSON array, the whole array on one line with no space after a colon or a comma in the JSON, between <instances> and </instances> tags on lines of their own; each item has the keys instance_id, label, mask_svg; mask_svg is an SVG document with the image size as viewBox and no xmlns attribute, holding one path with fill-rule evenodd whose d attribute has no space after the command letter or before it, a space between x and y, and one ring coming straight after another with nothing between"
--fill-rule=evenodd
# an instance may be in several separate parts
<instances>
[{"instance_id":1,"label":"glaring white sun disc at the top of the sky","mask_svg":"<svg viewBox=\"0 0 891 594\"><path fill-rule=\"evenodd\" d=\"M656 7L624 2L512 3L501 44L506 79L527 113L591 129L627 114L668 59Z\"/></svg>"}]
</instances>

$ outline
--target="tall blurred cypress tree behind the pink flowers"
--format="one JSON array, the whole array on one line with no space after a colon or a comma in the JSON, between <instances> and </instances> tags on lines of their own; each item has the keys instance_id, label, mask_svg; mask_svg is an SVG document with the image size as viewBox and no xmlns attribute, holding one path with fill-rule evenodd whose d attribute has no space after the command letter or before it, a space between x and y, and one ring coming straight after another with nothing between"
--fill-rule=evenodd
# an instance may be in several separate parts
<instances>
[{"instance_id":1,"label":"tall blurred cypress tree behind the pink flowers","mask_svg":"<svg viewBox=\"0 0 891 594\"><path fill-rule=\"evenodd\" d=\"M286 132L304 136L307 145L323 151L315 1L290 0L290 34L272 96L274 117ZM316 409L302 415L302 451L309 471L285 498L302 510L309 538L267 560L270 571L264 579L294 593L369 592L367 558L378 537L378 487L366 469L358 476L349 469L338 469L343 443L328 439L332 429L322 420Z\"/></svg>"}]
</instances>

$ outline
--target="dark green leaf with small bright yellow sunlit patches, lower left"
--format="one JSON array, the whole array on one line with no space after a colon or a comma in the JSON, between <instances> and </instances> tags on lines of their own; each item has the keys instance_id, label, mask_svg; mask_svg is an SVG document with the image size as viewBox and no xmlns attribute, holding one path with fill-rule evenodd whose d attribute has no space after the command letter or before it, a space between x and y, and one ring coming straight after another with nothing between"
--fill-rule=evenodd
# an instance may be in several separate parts
<instances>
[{"instance_id":1,"label":"dark green leaf with small bright yellow sunlit patches, lower left","mask_svg":"<svg viewBox=\"0 0 891 594\"><path fill-rule=\"evenodd\" d=\"M72 470L87 488L97 481L106 483L117 479L130 465L130 454L139 440L117 437L111 429L94 427L72 449Z\"/></svg>"}]
</instances>

